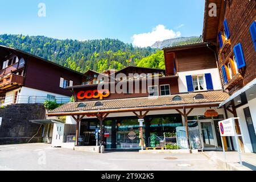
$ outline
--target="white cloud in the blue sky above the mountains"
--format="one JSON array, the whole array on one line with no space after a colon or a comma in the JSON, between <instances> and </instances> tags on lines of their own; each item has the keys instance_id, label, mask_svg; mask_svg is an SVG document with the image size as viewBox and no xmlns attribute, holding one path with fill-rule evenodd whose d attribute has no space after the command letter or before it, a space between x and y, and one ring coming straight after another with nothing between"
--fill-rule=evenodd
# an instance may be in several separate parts
<instances>
[{"instance_id":1,"label":"white cloud in the blue sky above the mountains","mask_svg":"<svg viewBox=\"0 0 256 182\"><path fill-rule=\"evenodd\" d=\"M175 32L173 30L168 30L165 26L159 24L154 27L151 32L134 34L132 39L134 46L147 47L152 46L157 41L177 38L180 35L181 33L179 31Z\"/></svg>"}]
</instances>

